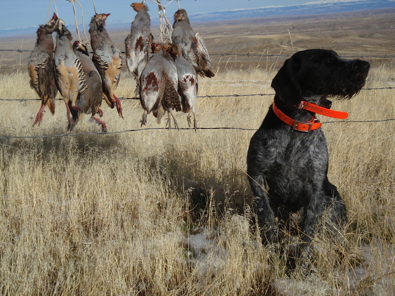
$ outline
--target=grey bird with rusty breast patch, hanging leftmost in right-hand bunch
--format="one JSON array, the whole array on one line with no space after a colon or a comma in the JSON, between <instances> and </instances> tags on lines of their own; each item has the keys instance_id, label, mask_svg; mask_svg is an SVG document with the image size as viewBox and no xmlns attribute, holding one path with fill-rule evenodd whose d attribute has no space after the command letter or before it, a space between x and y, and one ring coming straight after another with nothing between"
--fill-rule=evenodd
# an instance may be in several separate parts
<instances>
[{"instance_id":1,"label":"grey bird with rusty breast patch, hanging leftmost in right-hand bunch","mask_svg":"<svg viewBox=\"0 0 395 296\"><path fill-rule=\"evenodd\" d=\"M151 21L148 6L144 3L132 3L137 15L134 17L130 34L125 39L125 55L128 70L136 79L136 95L139 94L140 75L147 65L154 37L151 34Z\"/></svg>"}]
</instances>

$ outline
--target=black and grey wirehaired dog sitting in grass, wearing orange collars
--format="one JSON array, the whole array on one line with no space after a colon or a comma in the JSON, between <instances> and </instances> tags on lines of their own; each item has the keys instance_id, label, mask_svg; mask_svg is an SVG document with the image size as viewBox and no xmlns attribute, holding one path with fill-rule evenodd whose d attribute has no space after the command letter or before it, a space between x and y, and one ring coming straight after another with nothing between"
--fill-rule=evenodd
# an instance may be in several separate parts
<instances>
[{"instance_id":1,"label":"black and grey wirehaired dog sitting in grass, wearing orange collars","mask_svg":"<svg viewBox=\"0 0 395 296\"><path fill-rule=\"evenodd\" d=\"M327 97L350 99L365 85L369 67L362 60L339 58L334 51L310 49L286 60L274 77L274 102L247 154L263 244L278 241L275 218L284 220L284 212L302 215L301 240L307 244L299 245L299 259L310 253L325 209L336 227L347 223L346 206L327 177L327 144L315 114L346 118L346 112L330 110Z\"/></svg>"}]
</instances>

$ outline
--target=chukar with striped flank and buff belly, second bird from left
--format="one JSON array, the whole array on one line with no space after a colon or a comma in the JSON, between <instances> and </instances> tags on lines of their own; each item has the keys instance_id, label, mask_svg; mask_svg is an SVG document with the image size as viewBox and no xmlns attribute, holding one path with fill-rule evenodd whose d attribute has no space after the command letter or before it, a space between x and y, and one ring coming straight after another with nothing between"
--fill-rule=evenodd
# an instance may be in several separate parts
<instances>
[{"instance_id":1,"label":"chukar with striped flank and buff belly, second bird from left","mask_svg":"<svg viewBox=\"0 0 395 296\"><path fill-rule=\"evenodd\" d=\"M73 52L71 45L71 33L64 25L64 21L58 19L58 36L55 47L55 70L56 81L60 94L66 103L68 129L71 127L70 109L83 112L81 107L76 105L77 100L85 92L87 84L85 82L84 69L82 64Z\"/></svg>"}]
</instances>

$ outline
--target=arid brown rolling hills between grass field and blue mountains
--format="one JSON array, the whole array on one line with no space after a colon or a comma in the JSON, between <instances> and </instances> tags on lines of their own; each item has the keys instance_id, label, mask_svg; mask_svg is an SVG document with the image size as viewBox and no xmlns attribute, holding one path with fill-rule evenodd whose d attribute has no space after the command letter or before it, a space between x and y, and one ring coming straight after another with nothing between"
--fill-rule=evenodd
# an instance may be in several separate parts
<instances>
[{"instance_id":1,"label":"arid brown rolling hills between grass field and blue mountains","mask_svg":"<svg viewBox=\"0 0 395 296\"><path fill-rule=\"evenodd\" d=\"M395 9L362 11L338 15L290 18L243 19L210 24L193 23L213 53L290 55L303 49L333 49L342 56L363 56L372 64L393 63L393 59L369 56L395 54ZM129 28L110 30L110 37L123 51ZM153 28L158 37L158 28ZM54 34L55 37L55 34ZM1 49L33 49L35 36L2 38ZM2 72L24 67L29 52L1 52ZM213 67L270 67L285 58L212 56ZM218 64L218 62L220 62ZM282 64L282 63L280 63ZM278 66L276 64L276 66ZM126 70L126 68L125 68Z\"/></svg>"}]
</instances>

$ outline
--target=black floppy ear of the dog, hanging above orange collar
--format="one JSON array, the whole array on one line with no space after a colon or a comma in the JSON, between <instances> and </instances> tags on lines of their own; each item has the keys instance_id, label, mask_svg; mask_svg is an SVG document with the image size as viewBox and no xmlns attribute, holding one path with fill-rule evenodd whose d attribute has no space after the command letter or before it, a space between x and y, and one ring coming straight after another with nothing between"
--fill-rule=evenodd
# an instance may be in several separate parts
<instances>
[{"instance_id":1,"label":"black floppy ear of the dog, hanging above orange collar","mask_svg":"<svg viewBox=\"0 0 395 296\"><path fill-rule=\"evenodd\" d=\"M290 58L273 78L271 87L274 88L276 95L289 109L294 109L302 100L302 92L299 82L296 80L295 73L300 69L300 62Z\"/></svg>"}]
</instances>

